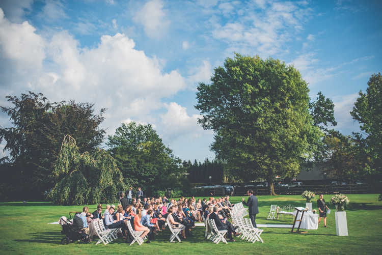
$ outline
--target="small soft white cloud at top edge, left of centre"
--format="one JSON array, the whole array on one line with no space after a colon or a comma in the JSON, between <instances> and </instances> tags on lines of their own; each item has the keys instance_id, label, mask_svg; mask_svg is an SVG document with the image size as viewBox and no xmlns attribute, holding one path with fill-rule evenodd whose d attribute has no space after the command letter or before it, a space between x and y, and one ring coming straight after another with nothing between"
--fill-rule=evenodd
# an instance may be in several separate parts
<instances>
[{"instance_id":1,"label":"small soft white cloud at top edge, left of centre","mask_svg":"<svg viewBox=\"0 0 382 255\"><path fill-rule=\"evenodd\" d=\"M160 37L171 23L162 8L163 2L161 0L152 0L138 10L133 17L134 21L144 26L144 31L149 37Z\"/></svg>"}]
</instances>

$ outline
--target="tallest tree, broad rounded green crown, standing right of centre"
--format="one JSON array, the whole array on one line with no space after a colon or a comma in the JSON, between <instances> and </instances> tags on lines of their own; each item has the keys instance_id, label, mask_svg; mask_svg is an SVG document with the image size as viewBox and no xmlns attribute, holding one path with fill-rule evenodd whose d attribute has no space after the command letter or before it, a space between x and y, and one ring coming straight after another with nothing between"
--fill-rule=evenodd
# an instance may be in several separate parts
<instances>
[{"instance_id":1,"label":"tallest tree, broad rounded green crown, standing right of centre","mask_svg":"<svg viewBox=\"0 0 382 255\"><path fill-rule=\"evenodd\" d=\"M313 156L322 136L309 114L309 89L284 62L236 54L214 69L211 84L199 83L205 129L215 131L211 149L245 180L294 177Z\"/></svg>"}]
</instances>

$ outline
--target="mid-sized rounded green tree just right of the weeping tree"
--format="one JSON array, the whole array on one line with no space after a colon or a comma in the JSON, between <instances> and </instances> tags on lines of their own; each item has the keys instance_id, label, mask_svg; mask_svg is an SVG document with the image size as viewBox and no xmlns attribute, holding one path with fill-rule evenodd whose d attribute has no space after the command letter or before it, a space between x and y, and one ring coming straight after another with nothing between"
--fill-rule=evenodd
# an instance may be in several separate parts
<instances>
[{"instance_id":1,"label":"mid-sized rounded green tree just right of the weeping tree","mask_svg":"<svg viewBox=\"0 0 382 255\"><path fill-rule=\"evenodd\" d=\"M181 177L181 160L173 155L151 124L123 123L106 143L125 178L147 193L172 187L170 177Z\"/></svg>"}]
</instances>

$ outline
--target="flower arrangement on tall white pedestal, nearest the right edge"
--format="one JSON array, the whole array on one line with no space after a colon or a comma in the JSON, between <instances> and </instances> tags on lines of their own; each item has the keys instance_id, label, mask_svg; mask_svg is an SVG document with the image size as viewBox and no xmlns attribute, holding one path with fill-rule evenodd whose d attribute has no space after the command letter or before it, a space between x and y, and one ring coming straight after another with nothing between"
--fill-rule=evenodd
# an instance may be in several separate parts
<instances>
[{"instance_id":1,"label":"flower arrangement on tall white pedestal, nearest the right edge","mask_svg":"<svg viewBox=\"0 0 382 255\"><path fill-rule=\"evenodd\" d=\"M349 199L344 194L332 196L329 204L336 206L336 231L337 236L347 236L347 220L344 206L349 204Z\"/></svg>"}]
</instances>

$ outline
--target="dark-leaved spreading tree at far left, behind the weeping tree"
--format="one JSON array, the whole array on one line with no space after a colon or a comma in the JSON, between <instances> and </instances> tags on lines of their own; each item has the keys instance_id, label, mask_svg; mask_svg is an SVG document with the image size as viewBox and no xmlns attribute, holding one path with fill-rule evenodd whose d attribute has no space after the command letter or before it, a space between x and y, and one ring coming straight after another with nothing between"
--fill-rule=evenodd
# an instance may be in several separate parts
<instances>
[{"instance_id":1,"label":"dark-leaved spreading tree at far left, behind the weeping tree","mask_svg":"<svg viewBox=\"0 0 382 255\"><path fill-rule=\"evenodd\" d=\"M50 103L33 92L7 98L13 107L1 109L13 126L0 127L0 141L5 140L4 151L10 153L1 160L1 193L5 197L23 193L24 200L40 200L54 187L52 171L66 134L77 137L81 153L94 151L102 143L105 131L99 124L104 109L95 115L93 104Z\"/></svg>"}]
</instances>

